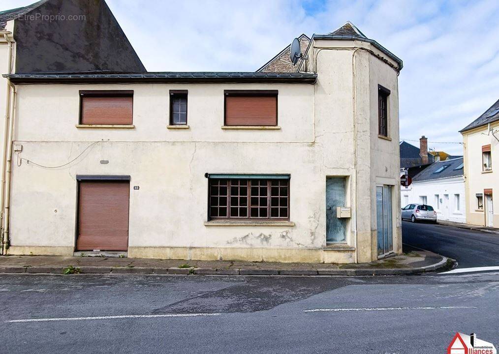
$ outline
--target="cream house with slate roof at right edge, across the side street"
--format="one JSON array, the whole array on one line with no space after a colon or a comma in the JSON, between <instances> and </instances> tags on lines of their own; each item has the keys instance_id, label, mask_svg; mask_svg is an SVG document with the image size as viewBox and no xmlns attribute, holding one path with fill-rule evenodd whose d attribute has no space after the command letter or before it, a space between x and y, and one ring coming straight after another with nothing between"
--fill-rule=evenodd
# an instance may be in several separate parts
<instances>
[{"instance_id":1,"label":"cream house with slate roof at right edge, across the side street","mask_svg":"<svg viewBox=\"0 0 499 354\"><path fill-rule=\"evenodd\" d=\"M499 227L499 100L461 131L469 224Z\"/></svg>"}]
</instances>

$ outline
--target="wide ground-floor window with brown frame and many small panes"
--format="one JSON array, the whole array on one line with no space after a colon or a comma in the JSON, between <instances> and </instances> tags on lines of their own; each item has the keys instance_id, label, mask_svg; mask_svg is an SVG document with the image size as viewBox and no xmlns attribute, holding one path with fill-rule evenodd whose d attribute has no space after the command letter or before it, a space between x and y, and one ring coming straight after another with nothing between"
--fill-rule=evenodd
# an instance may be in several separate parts
<instances>
[{"instance_id":1,"label":"wide ground-floor window with brown frame and many small panes","mask_svg":"<svg viewBox=\"0 0 499 354\"><path fill-rule=\"evenodd\" d=\"M210 219L289 220L289 179L210 178Z\"/></svg>"}]
</instances>

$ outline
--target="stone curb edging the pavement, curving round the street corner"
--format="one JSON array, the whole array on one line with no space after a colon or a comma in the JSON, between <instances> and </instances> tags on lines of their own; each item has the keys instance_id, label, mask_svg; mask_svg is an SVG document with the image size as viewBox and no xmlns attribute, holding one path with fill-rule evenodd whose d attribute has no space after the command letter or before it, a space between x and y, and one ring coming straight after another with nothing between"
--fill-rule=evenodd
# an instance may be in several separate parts
<instances>
[{"instance_id":1,"label":"stone curb edging the pavement, curving round the street corner","mask_svg":"<svg viewBox=\"0 0 499 354\"><path fill-rule=\"evenodd\" d=\"M316 275L401 275L432 272L447 265L448 257L442 256L442 260L418 268L372 268L372 269L248 269L248 268L150 268L150 267L99 267L80 266L83 274L199 274L199 275L267 275L267 276L316 276ZM62 266L0 266L0 273L49 273L62 274Z\"/></svg>"}]
</instances>

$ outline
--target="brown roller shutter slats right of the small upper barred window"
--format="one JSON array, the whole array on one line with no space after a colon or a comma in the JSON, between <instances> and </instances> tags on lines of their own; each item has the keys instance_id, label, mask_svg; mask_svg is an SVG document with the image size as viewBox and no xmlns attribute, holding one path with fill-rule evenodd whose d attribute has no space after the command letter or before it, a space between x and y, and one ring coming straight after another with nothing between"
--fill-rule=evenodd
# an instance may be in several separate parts
<instances>
[{"instance_id":1,"label":"brown roller shutter slats right of the small upper barred window","mask_svg":"<svg viewBox=\"0 0 499 354\"><path fill-rule=\"evenodd\" d=\"M277 96L226 96L225 125L277 125Z\"/></svg>"}]
</instances>

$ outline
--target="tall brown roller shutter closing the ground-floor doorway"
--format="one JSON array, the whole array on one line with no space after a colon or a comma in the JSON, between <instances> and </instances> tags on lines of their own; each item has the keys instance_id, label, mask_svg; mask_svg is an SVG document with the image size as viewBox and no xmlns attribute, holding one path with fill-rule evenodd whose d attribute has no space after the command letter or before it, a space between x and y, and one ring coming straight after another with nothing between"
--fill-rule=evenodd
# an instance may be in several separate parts
<instances>
[{"instance_id":1,"label":"tall brown roller shutter closing the ground-floor doorway","mask_svg":"<svg viewBox=\"0 0 499 354\"><path fill-rule=\"evenodd\" d=\"M128 181L81 181L78 251L128 249Z\"/></svg>"}]
</instances>

